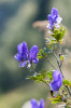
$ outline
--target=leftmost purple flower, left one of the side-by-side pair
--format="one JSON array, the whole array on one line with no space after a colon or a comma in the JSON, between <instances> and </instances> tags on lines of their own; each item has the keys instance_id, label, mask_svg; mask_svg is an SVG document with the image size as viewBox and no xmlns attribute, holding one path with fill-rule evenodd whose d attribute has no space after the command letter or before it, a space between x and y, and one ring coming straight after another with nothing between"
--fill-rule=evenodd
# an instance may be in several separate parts
<instances>
[{"instance_id":1,"label":"leftmost purple flower, left one of the side-by-side pair","mask_svg":"<svg viewBox=\"0 0 71 108\"><path fill-rule=\"evenodd\" d=\"M19 67L25 67L27 65L28 58L28 48L27 43L23 42L17 45L18 53L14 56L16 60L20 62Z\"/></svg>"}]
</instances>

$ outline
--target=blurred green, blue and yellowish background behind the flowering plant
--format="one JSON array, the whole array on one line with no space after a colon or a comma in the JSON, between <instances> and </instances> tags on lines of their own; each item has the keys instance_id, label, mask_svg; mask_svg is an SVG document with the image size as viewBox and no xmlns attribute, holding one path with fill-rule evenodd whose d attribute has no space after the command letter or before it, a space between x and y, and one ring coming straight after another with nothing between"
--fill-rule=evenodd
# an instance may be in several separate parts
<instances>
[{"instance_id":1,"label":"blurred green, blue and yellowish background behind the flowering plant","mask_svg":"<svg viewBox=\"0 0 71 108\"><path fill-rule=\"evenodd\" d=\"M22 108L31 98L46 99L49 89L45 84L26 80L33 72L19 68L14 55L17 53L17 44L23 41L28 43L29 49L33 44L39 49L44 46L45 32L33 28L32 24L46 21L52 8L59 10L62 24L68 28L62 44L63 53L68 54L63 73L71 80L71 0L0 0L0 108ZM54 59L53 56L51 58ZM37 71L47 66L41 60ZM47 107L52 108L47 103Z\"/></svg>"}]
</instances>

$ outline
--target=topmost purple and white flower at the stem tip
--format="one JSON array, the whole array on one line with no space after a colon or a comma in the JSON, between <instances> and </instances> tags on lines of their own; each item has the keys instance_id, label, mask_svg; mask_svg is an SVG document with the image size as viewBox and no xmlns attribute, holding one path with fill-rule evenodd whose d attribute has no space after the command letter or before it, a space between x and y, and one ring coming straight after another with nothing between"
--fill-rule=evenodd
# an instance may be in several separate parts
<instances>
[{"instance_id":1,"label":"topmost purple and white flower at the stem tip","mask_svg":"<svg viewBox=\"0 0 71 108\"><path fill-rule=\"evenodd\" d=\"M62 18L58 15L58 10L52 8L51 14L47 15L49 24L46 26L47 29L54 30L54 28L58 28Z\"/></svg>"}]
</instances>

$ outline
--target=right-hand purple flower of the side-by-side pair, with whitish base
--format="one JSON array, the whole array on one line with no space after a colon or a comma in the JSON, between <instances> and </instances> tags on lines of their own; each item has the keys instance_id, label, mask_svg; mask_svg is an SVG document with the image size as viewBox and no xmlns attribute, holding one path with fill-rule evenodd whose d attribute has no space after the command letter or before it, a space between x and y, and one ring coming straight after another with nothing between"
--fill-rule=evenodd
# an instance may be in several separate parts
<instances>
[{"instance_id":1,"label":"right-hand purple flower of the side-by-side pair, with whitish base","mask_svg":"<svg viewBox=\"0 0 71 108\"><path fill-rule=\"evenodd\" d=\"M33 45L31 49L30 49L30 52L29 52L29 65L28 65L28 68L30 68L31 64L38 64L39 63L39 59L37 58L37 54L38 54L38 46L37 45Z\"/></svg>"}]
</instances>

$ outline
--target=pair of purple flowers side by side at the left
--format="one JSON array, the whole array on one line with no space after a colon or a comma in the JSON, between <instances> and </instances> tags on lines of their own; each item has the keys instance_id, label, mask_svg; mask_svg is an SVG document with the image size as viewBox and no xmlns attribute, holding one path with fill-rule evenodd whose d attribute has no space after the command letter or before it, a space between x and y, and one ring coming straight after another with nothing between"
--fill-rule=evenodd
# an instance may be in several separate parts
<instances>
[{"instance_id":1,"label":"pair of purple flowers side by side at the left","mask_svg":"<svg viewBox=\"0 0 71 108\"><path fill-rule=\"evenodd\" d=\"M23 42L17 45L17 51L18 53L14 57L16 60L20 62L19 67L25 67L27 65L27 67L30 68L32 64L39 63L39 59L37 58L37 45L33 45L28 52L27 43Z\"/></svg>"}]
</instances>

